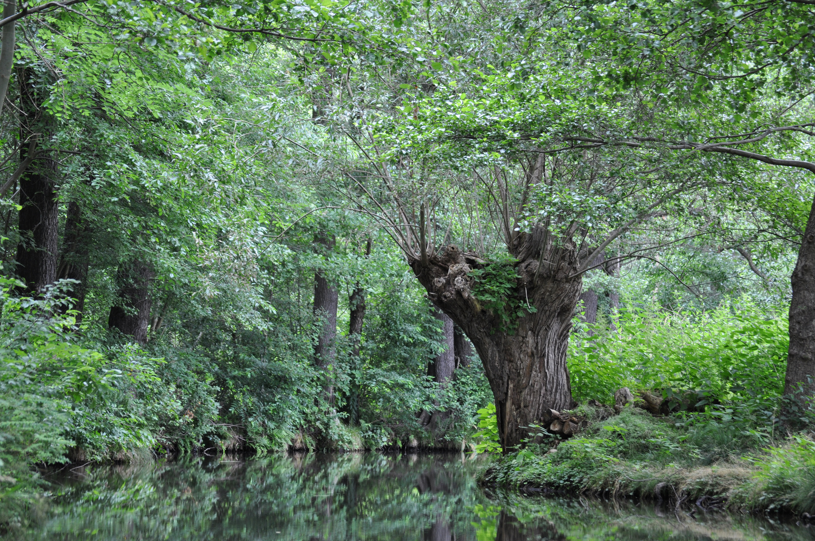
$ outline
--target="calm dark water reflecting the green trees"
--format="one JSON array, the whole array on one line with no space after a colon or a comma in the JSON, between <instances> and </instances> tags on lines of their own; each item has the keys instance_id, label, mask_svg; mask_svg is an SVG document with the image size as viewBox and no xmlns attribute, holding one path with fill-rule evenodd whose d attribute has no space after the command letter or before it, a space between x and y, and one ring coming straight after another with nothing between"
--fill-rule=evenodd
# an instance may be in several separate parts
<instances>
[{"instance_id":1,"label":"calm dark water reflecting the green trees","mask_svg":"<svg viewBox=\"0 0 815 541\"><path fill-rule=\"evenodd\" d=\"M24 539L815 539L763 518L489 494L462 455L302 455L52 472Z\"/></svg>"}]
</instances>

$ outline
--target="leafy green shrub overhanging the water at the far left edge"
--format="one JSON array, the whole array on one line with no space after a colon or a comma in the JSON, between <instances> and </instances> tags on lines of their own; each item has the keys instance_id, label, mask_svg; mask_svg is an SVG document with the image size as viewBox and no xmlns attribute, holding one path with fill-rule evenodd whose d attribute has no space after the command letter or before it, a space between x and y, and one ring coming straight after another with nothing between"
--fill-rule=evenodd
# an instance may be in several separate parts
<instances>
[{"instance_id":1,"label":"leafy green shrub overhanging the water at the far left edge","mask_svg":"<svg viewBox=\"0 0 815 541\"><path fill-rule=\"evenodd\" d=\"M24 520L36 463L64 462L73 405L118 376L103 359L68 340L65 283L37 298L15 297L0 279L0 524Z\"/></svg>"}]
</instances>

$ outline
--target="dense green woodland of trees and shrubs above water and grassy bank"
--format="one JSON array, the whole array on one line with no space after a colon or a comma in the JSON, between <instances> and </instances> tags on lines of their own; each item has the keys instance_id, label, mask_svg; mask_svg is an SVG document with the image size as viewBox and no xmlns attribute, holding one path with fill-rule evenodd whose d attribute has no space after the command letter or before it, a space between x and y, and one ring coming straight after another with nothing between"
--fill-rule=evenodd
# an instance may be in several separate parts
<instances>
[{"instance_id":1,"label":"dense green woodland of trees and shrubs above water and grassy bank","mask_svg":"<svg viewBox=\"0 0 815 541\"><path fill-rule=\"evenodd\" d=\"M813 21L8 0L0 483L137 450L507 453L621 388L755 445L808 425Z\"/></svg>"}]
</instances>

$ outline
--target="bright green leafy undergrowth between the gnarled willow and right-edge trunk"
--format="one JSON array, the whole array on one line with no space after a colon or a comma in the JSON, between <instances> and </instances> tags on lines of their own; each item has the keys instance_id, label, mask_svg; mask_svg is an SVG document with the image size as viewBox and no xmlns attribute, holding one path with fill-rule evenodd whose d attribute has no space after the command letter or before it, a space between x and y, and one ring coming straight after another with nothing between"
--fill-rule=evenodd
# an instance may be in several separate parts
<instances>
[{"instance_id":1,"label":"bright green leafy undergrowth between the gnarled willow and right-edge trunk","mask_svg":"<svg viewBox=\"0 0 815 541\"><path fill-rule=\"evenodd\" d=\"M786 318L768 318L749 301L707 312L664 314L630 304L617 331L578 336L569 356L575 398L613 401L620 387L693 397L704 414L689 423L738 424L742 433L778 427L789 335Z\"/></svg>"}]
</instances>

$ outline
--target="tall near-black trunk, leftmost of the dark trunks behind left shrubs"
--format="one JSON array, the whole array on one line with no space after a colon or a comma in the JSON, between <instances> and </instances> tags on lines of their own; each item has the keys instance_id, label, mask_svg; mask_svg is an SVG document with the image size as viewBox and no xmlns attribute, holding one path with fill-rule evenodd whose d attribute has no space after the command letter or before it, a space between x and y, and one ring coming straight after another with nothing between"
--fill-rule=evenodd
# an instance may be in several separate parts
<instances>
[{"instance_id":1,"label":"tall near-black trunk, leftmost of the dark trunks behind left shrubs","mask_svg":"<svg viewBox=\"0 0 815 541\"><path fill-rule=\"evenodd\" d=\"M47 119L42 108L45 96L31 81L32 73L22 68L20 81L20 161L25 161L29 143L46 143ZM42 152L39 149L34 152ZM59 207L55 190L56 162L47 153L32 161L20 176L20 244L17 245L17 275L29 294L40 292L56 280Z\"/></svg>"}]
</instances>

